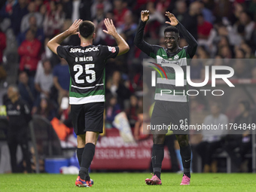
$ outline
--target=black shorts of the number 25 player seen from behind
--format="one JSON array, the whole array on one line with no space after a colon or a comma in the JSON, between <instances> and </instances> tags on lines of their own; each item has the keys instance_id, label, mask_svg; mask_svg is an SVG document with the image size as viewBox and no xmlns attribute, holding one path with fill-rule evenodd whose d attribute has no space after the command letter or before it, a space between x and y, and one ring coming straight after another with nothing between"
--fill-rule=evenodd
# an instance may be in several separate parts
<instances>
[{"instance_id":1,"label":"black shorts of the number 25 player seen from behind","mask_svg":"<svg viewBox=\"0 0 256 192\"><path fill-rule=\"evenodd\" d=\"M103 132L104 102L71 105L72 123L76 135L87 131Z\"/></svg>"}]
</instances>

